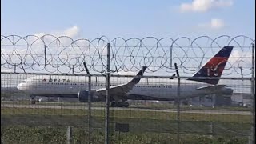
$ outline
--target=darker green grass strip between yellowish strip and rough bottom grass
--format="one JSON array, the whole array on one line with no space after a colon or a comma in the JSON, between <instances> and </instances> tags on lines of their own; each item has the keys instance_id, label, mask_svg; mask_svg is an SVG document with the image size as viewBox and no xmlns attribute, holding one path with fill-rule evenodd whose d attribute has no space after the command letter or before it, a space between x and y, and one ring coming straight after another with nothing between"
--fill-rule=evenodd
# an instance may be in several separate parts
<instances>
[{"instance_id":1,"label":"darker green grass strip between yellowish strip and rough bottom grass","mask_svg":"<svg viewBox=\"0 0 256 144\"><path fill-rule=\"evenodd\" d=\"M80 126L88 127L88 117L78 115L1 115L2 125L14 126ZM104 128L103 117L92 117L91 125L94 128ZM166 132L176 133L178 121L149 118L110 118L110 125L115 123L127 123L132 132ZM250 123L239 122L211 122L214 134L248 134ZM210 122L208 121L181 121L179 130L183 134L208 134Z\"/></svg>"}]
</instances>

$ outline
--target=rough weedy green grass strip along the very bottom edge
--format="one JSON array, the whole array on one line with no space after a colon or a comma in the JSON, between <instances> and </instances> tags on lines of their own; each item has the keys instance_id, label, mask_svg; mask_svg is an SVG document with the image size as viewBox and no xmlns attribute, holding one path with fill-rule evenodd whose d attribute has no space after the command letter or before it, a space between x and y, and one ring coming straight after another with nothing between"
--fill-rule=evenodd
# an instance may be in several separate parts
<instances>
[{"instance_id":1,"label":"rough weedy green grass strip along the very bottom edge","mask_svg":"<svg viewBox=\"0 0 256 144\"><path fill-rule=\"evenodd\" d=\"M2 126L2 141L4 143L66 143L65 126ZM247 137L214 136L209 138L202 135L180 135L182 144L246 144ZM73 127L70 143L88 142L88 131L83 128ZM94 129L91 134L91 143L104 143L104 130ZM169 144L177 143L176 134L145 132L145 133L118 133L110 131L110 143L121 144Z\"/></svg>"}]
</instances>

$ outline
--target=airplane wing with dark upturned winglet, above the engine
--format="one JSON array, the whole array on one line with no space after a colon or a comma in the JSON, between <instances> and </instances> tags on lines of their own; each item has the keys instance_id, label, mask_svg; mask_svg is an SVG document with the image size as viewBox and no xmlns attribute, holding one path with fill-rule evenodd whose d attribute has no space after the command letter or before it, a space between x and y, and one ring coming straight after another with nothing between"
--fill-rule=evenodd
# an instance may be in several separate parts
<instances>
[{"instance_id":1,"label":"airplane wing with dark upturned winglet, above the engine","mask_svg":"<svg viewBox=\"0 0 256 144\"><path fill-rule=\"evenodd\" d=\"M110 86L109 94L110 96L113 96L114 100L122 99L124 95L126 95L127 92L133 89L134 85L136 85L140 79L143 73L146 70L146 66L142 67L142 70L138 72L136 77L134 77L130 82L127 82L125 84L117 85L117 86ZM96 90L96 92L100 95L106 95L106 88L102 88L99 90Z\"/></svg>"}]
</instances>

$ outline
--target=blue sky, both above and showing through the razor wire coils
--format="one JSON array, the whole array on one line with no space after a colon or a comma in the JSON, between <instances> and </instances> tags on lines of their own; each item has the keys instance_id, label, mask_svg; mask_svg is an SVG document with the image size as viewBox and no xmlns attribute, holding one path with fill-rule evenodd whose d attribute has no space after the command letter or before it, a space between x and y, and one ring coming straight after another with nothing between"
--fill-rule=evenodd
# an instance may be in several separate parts
<instances>
[{"instance_id":1,"label":"blue sky, both above and showing through the razor wire coils","mask_svg":"<svg viewBox=\"0 0 256 144\"><path fill-rule=\"evenodd\" d=\"M5 36L10 34L20 36L31 34L37 36L54 34L56 36L66 35L73 39L86 38L92 40L105 35L110 40L118 37L126 39L145 37L168 37L176 39L179 37L188 37L193 40L193 38L202 35L210 36L210 38L216 38L220 35L230 35L232 38L238 35L246 35L255 39L254 31L254 0L1 1L1 34ZM152 46L152 44L155 46L156 41L151 41L152 39L153 38L145 42L147 46ZM223 41L220 41L219 43L221 46L225 45L227 42L225 41L226 39L221 39ZM53 39L50 40L53 41ZM202 38L198 40L198 42L201 43L201 46L206 47L210 46L208 40ZM62 43L65 42L65 40L62 40ZM172 63L178 62L178 64L182 63L182 66L192 67L193 70L190 70L191 73L194 72L194 70L198 70L198 66L202 65L203 54L200 49L195 50L186 47L189 46L186 42L187 41L183 39L178 43L181 43L182 46L184 46L184 49L190 50L189 52L186 51L186 54L188 55L182 53L182 50L176 46L176 48L174 47L174 50L172 50L172 57L174 59ZM233 42L230 44L236 46L229 59L232 70L236 70L236 72L233 72L232 74L240 74L239 66L243 66L243 69L245 70L243 74L250 74L250 42L251 41L244 42L244 38L238 38L238 43ZM2 43L4 43L4 41L2 41ZM70 44L69 42L66 43ZM132 46L136 46L137 43L135 41L134 43L135 45ZM162 42L162 44L164 43L165 42ZM197 44L197 42L195 43ZM238 47L238 44L247 47ZM168 49L169 45L166 46ZM55 47L50 47L50 50L56 50L56 54L58 54L58 50L54 49ZM23 55L26 55L27 53L24 47L17 48L17 50ZM44 49L40 49L40 47L33 47L33 50L34 52L37 52L37 54L44 54ZM155 50L158 52L158 50L161 49ZM4 46L2 46L1 51L6 54L16 53L16 51L10 49L10 47ZM74 52L73 49L70 49L70 51ZM122 50L119 51L122 52ZM142 51L138 51L138 53L139 52L143 54ZM152 57L155 59L152 58L154 60L148 60L146 58L138 57L138 59L136 59L136 64L131 64L130 62L132 61L126 60L126 58L130 58L130 55L134 55L136 52L130 55L127 53L125 55L127 57L122 57L122 62L127 63L122 64L124 66L135 65L140 69L140 66L147 64L151 65L150 62L154 62L152 66L158 67L158 65L163 65L162 62L166 62L161 59L165 58L166 55L168 56L166 59L172 59L169 58L169 52L170 50L168 53L166 51L160 51L158 54L154 53L154 50L150 50ZM204 49L204 52L206 54L204 55L205 58L210 58L218 52L218 49ZM82 52L79 51L78 54L82 54ZM166 55L163 56L163 54ZM68 56L71 58L70 54L68 54ZM77 54L74 54L74 57L76 56ZM186 59L187 56L190 57L190 60ZM197 62L193 61L193 59L195 59L194 57L197 58ZM11 59L11 62L16 60L16 63L21 62L19 58L15 58L15 55L12 55L12 58L6 59L6 61L10 61ZM203 63L205 61L206 60L203 59ZM227 72L227 74L231 73Z\"/></svg>"}]
</instances>

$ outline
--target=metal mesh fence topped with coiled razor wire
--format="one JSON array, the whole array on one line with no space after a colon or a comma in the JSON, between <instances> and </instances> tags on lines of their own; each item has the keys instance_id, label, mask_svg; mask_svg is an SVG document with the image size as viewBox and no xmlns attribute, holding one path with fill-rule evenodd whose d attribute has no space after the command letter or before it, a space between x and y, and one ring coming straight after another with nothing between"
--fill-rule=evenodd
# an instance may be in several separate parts
<instances>
[{"instance_id":1,"label":"metal mesh fence topped with coiled razor wire","mask_svg":"<svg viewBox=\"0 0 256 144\"><path fill-rule=\"evenodd\" d=\"M242 35L2 35L2 143L254 143L254 65Z\"/></svg>"}]
</instances>

